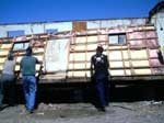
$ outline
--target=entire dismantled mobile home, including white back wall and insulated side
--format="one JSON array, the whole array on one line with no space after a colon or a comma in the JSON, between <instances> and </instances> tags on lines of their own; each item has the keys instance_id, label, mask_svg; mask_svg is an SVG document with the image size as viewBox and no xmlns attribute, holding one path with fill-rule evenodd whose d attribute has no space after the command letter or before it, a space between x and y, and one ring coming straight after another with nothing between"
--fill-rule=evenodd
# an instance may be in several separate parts
<instances>
[{"instance_id":1,"label":"entire dismantled mobile home, including white back wall and insulated side","mask_svg":"<svg viewBox=\"0 0 164 123\"><path fill-rule=\"evenodd\" d=\"M160 2L141 19L1 24L0 70L13 51L20 79L20 62L31 45L43 62L36 68L40 82L90 82L91 56L102 44L112 80L164 79L163 22Z\"/></svg>"}]
</instances>

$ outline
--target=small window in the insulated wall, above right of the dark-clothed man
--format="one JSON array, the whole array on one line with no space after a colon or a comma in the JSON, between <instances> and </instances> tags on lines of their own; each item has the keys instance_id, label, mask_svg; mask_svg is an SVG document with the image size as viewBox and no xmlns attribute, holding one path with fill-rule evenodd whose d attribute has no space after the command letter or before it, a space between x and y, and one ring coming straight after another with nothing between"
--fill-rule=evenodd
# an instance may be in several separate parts
<instances>
[{"instance_id":1,"label":"small window in the insulated wall, above right of the dark-clothed man","mask_svg":"<svg viewBox=\"0 0 164 123\"><path fill-rule=\"evenodd\" d=\"M126 44L126 34L109 34L109 44Z\"/></svg>"}]
</instances>

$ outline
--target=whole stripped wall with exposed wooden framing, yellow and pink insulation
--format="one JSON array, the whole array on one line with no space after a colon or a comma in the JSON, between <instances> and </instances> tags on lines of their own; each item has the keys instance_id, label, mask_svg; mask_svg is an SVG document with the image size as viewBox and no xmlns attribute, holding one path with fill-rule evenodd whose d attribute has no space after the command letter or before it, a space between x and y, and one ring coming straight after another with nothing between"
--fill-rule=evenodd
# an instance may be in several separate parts
<instances>
[{"instance_id":1,"label":"whole stripped wall with exposed wooden framing, yellow and pink insulation","mask_svg":"<svg viewBox=\"0 0 164 123\"><path fill-rule=\"evenodd\" d=\"M110 44L108 36L118 33L126 34L126 44ZM101 43L109 60L112 78L164 75L163 65L159 60L159 43L155 27L152 25L87 30L85 32L63 32L55 35L40 34L30 36L33 41L35 56L43 60L45 75L40 81L90 81L91 56L95 54ZM31 40L30 37L26 37ZM34 38L35 37L35 38ZM14 42L19 42L16 38ZM1 44L3 52L10 51L12 43ZM10 45L10 47L9 47ZM4 53L4 57L7 58ZM22 52L16 52L16 68L20 70ZM3 63L4 60L1 59ZM0 64L2 69L2 64ZM36 67L39 72L40 65ZM151 78L147 78L151 79Z\"/></svg>"}]
</instances>

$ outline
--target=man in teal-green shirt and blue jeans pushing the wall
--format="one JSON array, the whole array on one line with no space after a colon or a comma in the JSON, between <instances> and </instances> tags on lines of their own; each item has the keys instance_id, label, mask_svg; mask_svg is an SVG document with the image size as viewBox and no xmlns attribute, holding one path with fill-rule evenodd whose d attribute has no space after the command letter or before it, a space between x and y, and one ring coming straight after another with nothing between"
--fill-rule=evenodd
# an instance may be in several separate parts
<instances>
[{"instance_id":1,"label":"man in teal-green shirt and blue jeans pushing the wall","mask_svg":"<svg viewBox=\"0 0 164 123\"><path fill-rule=\"evenodd\" d=\"M26 55L21 60L21 71L23 77L23 87L25 94L25 107L30 113L33 113L36 98L36 64L40 64L36 57L32 56L32 47L26 49Z\"/></svg>"}]
</instances>

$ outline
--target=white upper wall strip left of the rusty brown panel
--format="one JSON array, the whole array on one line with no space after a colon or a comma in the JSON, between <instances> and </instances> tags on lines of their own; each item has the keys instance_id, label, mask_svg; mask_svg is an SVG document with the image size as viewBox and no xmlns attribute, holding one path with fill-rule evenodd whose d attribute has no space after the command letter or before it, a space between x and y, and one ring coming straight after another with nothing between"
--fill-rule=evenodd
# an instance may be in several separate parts
<instances>
[{"instance_id":1,"label":"white upper wall strip left of the rusty brown panel","mask_svg":"<svg viewBox=\"0 0 164 123\"><path fill-rule=\"evenodd\" d=\"M0 25L0 37L7 37L8 31L23 30L25 35L45 33L48 29L57 29L59 32L71 31L72 22L54 23L27 23L27 24L8 24Z\"/></svg>"}]
</instances>

